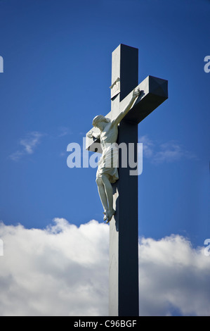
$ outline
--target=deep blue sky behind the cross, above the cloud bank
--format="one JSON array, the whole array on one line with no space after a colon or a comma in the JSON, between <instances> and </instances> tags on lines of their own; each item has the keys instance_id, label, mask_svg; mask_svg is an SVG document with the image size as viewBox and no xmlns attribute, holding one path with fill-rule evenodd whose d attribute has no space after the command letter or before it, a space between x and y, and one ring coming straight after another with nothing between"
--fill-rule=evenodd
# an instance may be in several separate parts
<instances>
[{"instance_id":1,"label":"deep blue sky behind the cross, above the cloud bank","mask_svg":"<svg viewBox=\"0 0 210 331\"><path fill-rule=\"evenodd\" d=\"M0 1L0 219L45 229L103 222L96 169L68 168L98 113L110 111L111 54L139 49L139 82L169 99L139 125L139 236L210 237L210 1ZM91 153L90 153L91 155Z\"/></svg>"}]
</instances>

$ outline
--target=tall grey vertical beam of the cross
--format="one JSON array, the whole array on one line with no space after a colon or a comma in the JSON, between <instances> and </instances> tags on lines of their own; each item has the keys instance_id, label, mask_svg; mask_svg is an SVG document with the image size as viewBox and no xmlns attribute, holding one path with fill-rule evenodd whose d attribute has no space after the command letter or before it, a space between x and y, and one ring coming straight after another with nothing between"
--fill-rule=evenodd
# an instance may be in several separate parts
<instances>
[{"instance_id":1,"label":"tall grey vertical beam of the cross","mask_svg":"<svg viewBox=\"0 0 210 331\"><path fill-rule=\"evenodd\" d=\"M120 93L112 98L112 118L119 103L138 85L138 49L120 44L112 53L112 84L119 78ZM118 144L137 144L138 123L122 120ZM137 157L137 156L136 156ZM113 185L116 214L110 222L110 316L138 316L138 177L122 168Z\"/></svg>"}]
</instances>

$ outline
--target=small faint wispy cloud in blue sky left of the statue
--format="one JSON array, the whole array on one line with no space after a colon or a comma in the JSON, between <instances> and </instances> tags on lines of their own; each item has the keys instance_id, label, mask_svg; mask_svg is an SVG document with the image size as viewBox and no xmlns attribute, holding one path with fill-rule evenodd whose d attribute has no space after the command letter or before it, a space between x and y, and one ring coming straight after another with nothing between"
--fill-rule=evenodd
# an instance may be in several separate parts
<instances>
[{"instance_id":1,"label":"small faint wispy cloud in blue sky left of the statue","mask_svg":"<svg viewBox=\"0 0 210 331\"><path fill-rule=\"evenodd\" d=\"M43 133L34 131L30 132L24 139L20 139L20 146L22 148L9 156L11 160L18 161L24 155L33 154L34 149L40 143L43 136Z\"/></svg>"}]
</instances>

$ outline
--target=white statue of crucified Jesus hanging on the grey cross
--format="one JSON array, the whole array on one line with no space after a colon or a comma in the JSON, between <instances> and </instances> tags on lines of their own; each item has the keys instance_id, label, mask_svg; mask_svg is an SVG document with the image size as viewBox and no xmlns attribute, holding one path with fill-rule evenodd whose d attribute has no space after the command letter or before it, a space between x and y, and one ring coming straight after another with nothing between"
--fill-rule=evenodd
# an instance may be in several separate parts
<instances>
[{"instance_id":1,"label":"white statue of crucified Jesus hanging on the grey cross","mask_svg":"<svg viewBox=\"0 0 210 331\"><path fill-rule=\"evenodd\" d=\"M126 113L129 112L141 92L142 91L140 91L140 89L133 90L133 95L128 106L126 106L124 111L119 113L117 118L114 118L114 120L105 118L103 115L98 115L93 118L93 126L98 127L98 129L100 129L100 133L96 134L96 132L91 130L87 135L89 138L99 138L103 151L100 161L98 162L96 183L98 185L98 193L103 204L105 214L103 219L107 220L106 223L110 222L112 216L115 213L113 208L113 193L111 183L114 183L119 179L116 164L116 154L118 154L118 150L117 148L113 148L114 143L117 142L118 125ZM112 166L107 167L107 164Z\"/></svg>"}]
</instances>

